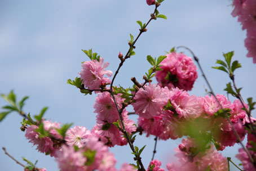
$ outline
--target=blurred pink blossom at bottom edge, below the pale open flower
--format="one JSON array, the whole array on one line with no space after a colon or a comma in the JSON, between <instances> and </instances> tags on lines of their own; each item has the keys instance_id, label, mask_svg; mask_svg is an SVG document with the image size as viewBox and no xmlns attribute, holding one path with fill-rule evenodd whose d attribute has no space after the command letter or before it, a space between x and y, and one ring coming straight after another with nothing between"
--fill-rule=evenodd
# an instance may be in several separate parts
<instances>
[{"instance_id":1,"label":"blurred pink blossom at bottom edge, below the pale open flower","mask_svg":"<svg viewBox=\"0 0 256 171\"><path fill-rule=\"evenodd\" d=\"M61 146L61 151L57 152L56 161L62 171L77 171L85 169L85 156L82 151L75 151L73 146Z\"/></svg>"}]
</instances>

